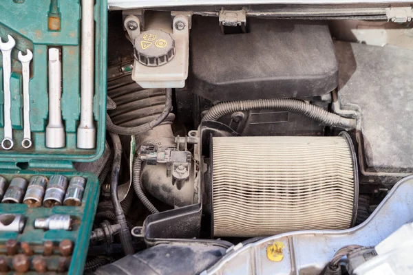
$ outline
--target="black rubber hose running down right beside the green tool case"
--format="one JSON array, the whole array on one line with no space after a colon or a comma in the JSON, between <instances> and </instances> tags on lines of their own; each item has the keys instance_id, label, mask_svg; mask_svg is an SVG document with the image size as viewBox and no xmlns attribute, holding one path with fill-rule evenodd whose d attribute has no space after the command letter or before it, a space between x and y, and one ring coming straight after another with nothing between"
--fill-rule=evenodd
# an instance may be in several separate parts
<instances>
[{"instance_id":1,"label":"black rubber hose running down right beside the green tool case","mask_svg":"<svg viewBox=\"0 0 413 275\"><path fill-rule=\"evenodd\" d=\"M114 212L116 215L116 223L119 223L122 230L119 232L120 243L123 245L123 250L125 255L134 254L134 246L132 245L132 236L129 228L127 227L125 213L123 212L122 206L120 206L118 198L118 180L119 180L119 170L120 161L122 159L122 144L120 143L119 135L116 133L109 133L112 138L112 143L114 144L114 161L112 165L112 174L110 181L110 197L112 199L112 204L114 205Z\"/></svg>"}]
</instances>

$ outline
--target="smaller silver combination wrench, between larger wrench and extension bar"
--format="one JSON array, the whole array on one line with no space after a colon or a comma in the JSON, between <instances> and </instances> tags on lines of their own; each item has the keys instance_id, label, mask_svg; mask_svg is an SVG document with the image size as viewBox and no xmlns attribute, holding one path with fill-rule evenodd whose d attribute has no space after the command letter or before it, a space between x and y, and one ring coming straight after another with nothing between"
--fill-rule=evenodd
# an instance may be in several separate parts
<instances>
[{"instance_id":1,"label":"smaller silver combination wrench, between larger wrench and extension bar","mask_svg":"<svg viewBox=\"0 0 413 275\"><path fill-rule=\"evenodd\" d=\"M23 74L23 140L21 146L30 148L32 146L32 135L30 133L30 95L29 95L29 80L30 80L30 61L33 54L30 50L26 50L27 54L23 56L20 51L17 57L21 62L21 72Z\"/></svg>"}]
</instances>

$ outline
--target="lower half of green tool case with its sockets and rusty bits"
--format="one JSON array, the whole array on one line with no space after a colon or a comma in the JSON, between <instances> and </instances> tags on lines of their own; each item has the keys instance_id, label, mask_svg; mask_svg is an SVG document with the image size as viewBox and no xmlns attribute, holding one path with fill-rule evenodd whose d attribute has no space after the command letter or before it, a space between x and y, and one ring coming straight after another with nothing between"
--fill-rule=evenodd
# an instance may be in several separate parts
<instances>
[{"instance_id":1,"label":"lower half of green tool case with its sockets and rusty bits","mask_svg":"<svg viewBox=\"0 0 413 275\"><path fill-rule=\"evenodd\" d=\"M28 170L0 175L0 272L82 274L97 177Z\"/></svg>"}]
</instances>

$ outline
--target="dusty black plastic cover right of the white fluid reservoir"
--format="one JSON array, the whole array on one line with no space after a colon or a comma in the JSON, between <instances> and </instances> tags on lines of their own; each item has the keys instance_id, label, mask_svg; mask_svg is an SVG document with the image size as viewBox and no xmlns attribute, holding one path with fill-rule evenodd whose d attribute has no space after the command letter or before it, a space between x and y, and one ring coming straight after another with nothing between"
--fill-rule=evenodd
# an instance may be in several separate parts
<instances>
[{"instance_id":1,"label":"dusty black plastic cover right of the white fluid reservoir","mask_svg":"<svg viewBox=\"0 0 413 275\"><path fill-rule=\"evenodd\" d=\"M218 19L193 17L191 89L210 100L321 96L338 84L328 25L247 19L246 34L222 34Z\"/></svg>"}]
</instances>

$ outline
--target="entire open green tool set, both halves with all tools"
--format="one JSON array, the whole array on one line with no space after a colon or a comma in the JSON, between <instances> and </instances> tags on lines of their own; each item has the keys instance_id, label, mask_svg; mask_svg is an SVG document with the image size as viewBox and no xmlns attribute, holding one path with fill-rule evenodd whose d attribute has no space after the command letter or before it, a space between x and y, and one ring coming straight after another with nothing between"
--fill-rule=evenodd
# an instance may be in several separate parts
<instances>
[{"instance_id":1,"label":"entire open green tool set, both halves with all tools","mask_svg":"<svg viewBox=\"0 0 413 275\"><path fill-rule=\"evenodd\" d=\"M72 162L105 149L107 1L0 2L0 272L83 274L99 184Z\"/></svg>"}]
</instances>

